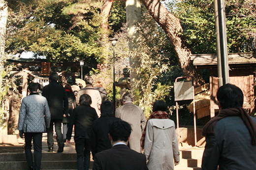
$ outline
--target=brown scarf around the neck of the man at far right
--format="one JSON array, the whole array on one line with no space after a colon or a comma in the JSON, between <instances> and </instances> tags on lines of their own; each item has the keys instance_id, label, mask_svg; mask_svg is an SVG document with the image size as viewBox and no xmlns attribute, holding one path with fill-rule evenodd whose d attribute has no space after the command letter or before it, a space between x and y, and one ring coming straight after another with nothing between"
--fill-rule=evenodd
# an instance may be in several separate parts
<instances>
[{"instance_id":1,"label":"brown scarf around the neck of the man at far right","mask_svg":"<svg viewBox=\"0 0 256 170\"><path fill-rule=\"evenodd\" d=\"M242 118L252 137L252 144L256 145L256 124L253 121L252 117L242 107L221 110L216 117L211 119L203 127L203 136L206 136L207 134L214 134L214 126L217 121L228 116L240 116Z\"/></svg>"}]
</instances>

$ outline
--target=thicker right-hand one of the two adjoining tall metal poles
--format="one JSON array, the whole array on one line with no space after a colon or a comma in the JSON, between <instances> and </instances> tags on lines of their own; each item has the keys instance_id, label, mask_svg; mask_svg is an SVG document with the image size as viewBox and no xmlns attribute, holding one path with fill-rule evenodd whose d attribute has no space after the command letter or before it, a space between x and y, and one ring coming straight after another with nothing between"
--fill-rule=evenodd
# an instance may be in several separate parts
<instances>
[{"instance_id":1,"label":"thicker right-hand one of the two adjoining tall metal poles","mask_svg":"<svg viewBox=\"0 0 256 170\"><path fill-rule=\"evenodd\" d=\"M218 15L220 28L220 49L222 62L223 84L229 83L228 60L227 60L227 40L226 40L226 16L224 0L218 0Z\"/></svg>"}]
</instances>

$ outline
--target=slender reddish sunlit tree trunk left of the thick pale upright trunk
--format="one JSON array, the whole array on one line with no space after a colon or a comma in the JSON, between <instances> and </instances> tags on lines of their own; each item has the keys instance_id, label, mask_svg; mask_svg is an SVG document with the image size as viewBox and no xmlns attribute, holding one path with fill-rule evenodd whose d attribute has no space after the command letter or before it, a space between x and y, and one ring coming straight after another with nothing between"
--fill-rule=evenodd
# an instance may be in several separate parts
<instances>
[{"instance_id":1,"label":"slender reddish sunlit tree trunk left of the thick pale upright trunk","mask_svg":"<svg viewBox=\"0 0 256 170\"><path fill-rule=\"evenodd\" d=\"M109 17L109 13L112 7L114 0L106 0L104 2L104 6L102 8L102 24L101 24L101 28L103 29L103 34L102 34L102 47L103 47L103 51L102 51L102 55L105 58L105 61L108 60L108 50L109 50L109 41L108 41L108 17ZM99 66L99 69L105 69L107 67L106 62L103 62L103 65Z\"/></svg>"}]
</instances>

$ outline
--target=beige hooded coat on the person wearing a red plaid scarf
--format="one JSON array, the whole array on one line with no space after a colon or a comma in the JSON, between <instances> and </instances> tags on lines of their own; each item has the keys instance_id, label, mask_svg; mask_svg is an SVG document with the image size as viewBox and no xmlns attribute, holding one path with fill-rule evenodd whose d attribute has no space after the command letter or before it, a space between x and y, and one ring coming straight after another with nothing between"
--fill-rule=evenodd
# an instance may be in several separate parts
<instances>
[{"instance_id":1,"label":"beige hooded coat on the person wearing a red plaid scarf","mask_svg":"<svg viewBox=\"0 0 256 170\"><path fill-rule=\"evenodd\" d=\"M144 153L149 170L174 170L174 161L180 161L175 123L170 119L148 120Z\"/></svg>"}]
</instances>

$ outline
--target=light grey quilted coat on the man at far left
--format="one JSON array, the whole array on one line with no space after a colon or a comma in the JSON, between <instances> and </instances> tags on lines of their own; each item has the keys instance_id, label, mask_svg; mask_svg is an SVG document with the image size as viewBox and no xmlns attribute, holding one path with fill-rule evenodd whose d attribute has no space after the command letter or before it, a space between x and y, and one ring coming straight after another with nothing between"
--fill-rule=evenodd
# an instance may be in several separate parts
<instances>
[{"instance_id":1,"label":"light grey quilted coat on the man at far left","mask_svg":"<svg viewBox=\"0 0 256 170\"><path fill-rule=\"evenodd\" d=\"M31 94L22 99L18 130L23 132L46 132L50 127L51 113L45 97Z\"/></svg>"}]
</instances>

